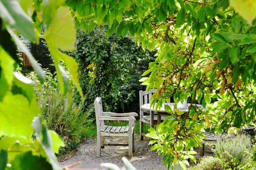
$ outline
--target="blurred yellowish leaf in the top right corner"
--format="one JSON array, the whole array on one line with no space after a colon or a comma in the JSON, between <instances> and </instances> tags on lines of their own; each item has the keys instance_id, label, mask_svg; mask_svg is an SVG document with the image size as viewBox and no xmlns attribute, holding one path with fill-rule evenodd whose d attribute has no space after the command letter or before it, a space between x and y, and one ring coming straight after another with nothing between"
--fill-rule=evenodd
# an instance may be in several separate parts
<instances>
[{"instance_id":1,"label":"blurred yellowish leaf in the top right corner","mask_svg":"<svg viewBox=\"0 0 256 170\"><path fill-rule=\"evenodd\" d=\"M256 18L255 0L229 0L229 4L237 13L239 13L240 16L252 25L252 21Z\"/></svg>"}]
</instances>

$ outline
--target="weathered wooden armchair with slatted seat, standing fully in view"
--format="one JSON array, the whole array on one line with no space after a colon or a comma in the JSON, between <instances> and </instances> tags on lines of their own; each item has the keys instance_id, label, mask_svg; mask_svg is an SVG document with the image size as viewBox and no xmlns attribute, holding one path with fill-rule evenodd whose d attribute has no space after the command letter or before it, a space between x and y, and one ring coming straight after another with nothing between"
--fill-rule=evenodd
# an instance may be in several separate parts
<instances>
[{"instance_id":1,"label":"weathered wooden armchair with slatted seat, standing fully in view","mask_svg":"<svg viewBox=\"0 0 256 170\"><path fill-rule=\"evenodd\" d=\"M134 152L134 121L137 113L112 113L103 112L102 101L100 97L97 97L94 101L95 104L95 114L96 114L96 125L97 125L97 157L100 157L101 150L109 150L104 148L104 146L128 146L128 157L132 157L132 152ZM108 126L104 125L105 120L110 121L129 121L129 126ZM104 136L127 136L128 144L110 144L104 143ZM123 151L124 149L119 149L118 151Z\"/></svg>"}]
</instances>

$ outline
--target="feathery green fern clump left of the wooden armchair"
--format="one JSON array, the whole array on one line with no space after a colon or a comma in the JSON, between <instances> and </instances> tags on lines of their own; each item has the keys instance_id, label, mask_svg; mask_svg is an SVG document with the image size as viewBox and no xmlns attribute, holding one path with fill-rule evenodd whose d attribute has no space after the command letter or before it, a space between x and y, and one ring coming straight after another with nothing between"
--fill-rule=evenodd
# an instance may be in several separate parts
<instances>
[{"instance_id":1,"label":"feathery green fern clump left of the wooden armchair","mask_svg":"<svg viewBox=\"0 0 256 170\"><path fill-rule=\"evenodd\" d=\"M50 130L67 137L75 143L79 143L91 121L88 116L93 112L91 104L85 112L82 112L83 103L74 102L74 89L70 87L65 97L61 97L58 89L48 86L36 91L37 101L41 107L43 117Z\"/></svg>"}]
</instances>

